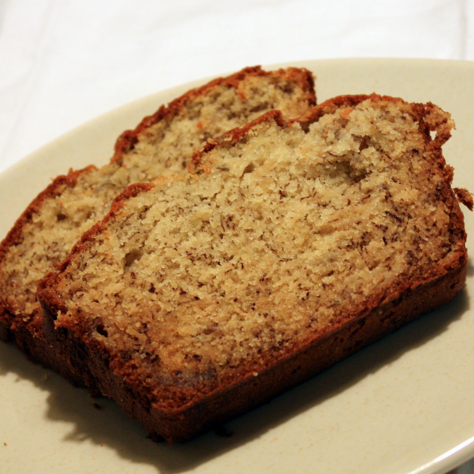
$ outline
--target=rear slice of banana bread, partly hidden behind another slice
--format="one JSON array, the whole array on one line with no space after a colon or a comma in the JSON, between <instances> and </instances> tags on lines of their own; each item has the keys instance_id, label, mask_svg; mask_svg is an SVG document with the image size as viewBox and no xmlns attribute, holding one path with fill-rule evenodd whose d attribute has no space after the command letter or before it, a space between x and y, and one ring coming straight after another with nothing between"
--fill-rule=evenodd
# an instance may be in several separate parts
<instances>
[{"instance_id":1,"label":"rear slice of banana bread, partly hidden behind another slice","mask_svg":"<svg viewBox=\"0 0 474 474\"><path fill-rule=\"evenodd\" d=\"M313 78L305 69L246 68L191 90L144 118L118 138L110 164L56 178L0 245L0 336L13 338L31 358L66 374L61 359L44 344L36 286L105 215L118 193L133 182L187 173L193 151L208 138L268 110L298 117L315 102Z\"/></svg>"}]
</instances>

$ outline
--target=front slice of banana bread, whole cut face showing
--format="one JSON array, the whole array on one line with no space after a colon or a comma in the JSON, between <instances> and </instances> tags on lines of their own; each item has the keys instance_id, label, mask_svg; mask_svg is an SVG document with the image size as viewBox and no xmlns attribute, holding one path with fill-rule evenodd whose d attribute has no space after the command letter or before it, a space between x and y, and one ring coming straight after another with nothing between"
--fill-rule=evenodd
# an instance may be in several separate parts
<instances>
[{"instance_id":1,"label":"front slice of banana bread, whole cut face showing","mask_svg":"<svg viewBox=\"0 0 474 474\"><path fill-rule=\"evenodd\" d=\"M452 127L431 103L343 96L210 141L40 283L47 340L170 442L268 400L462 288Z\"/></svg>"}]
</instances>

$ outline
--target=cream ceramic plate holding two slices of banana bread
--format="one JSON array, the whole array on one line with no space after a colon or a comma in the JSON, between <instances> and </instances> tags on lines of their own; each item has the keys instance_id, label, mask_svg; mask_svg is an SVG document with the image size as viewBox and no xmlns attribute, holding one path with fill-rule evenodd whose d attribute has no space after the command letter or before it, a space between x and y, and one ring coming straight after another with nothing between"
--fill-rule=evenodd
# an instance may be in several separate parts
<instances>
[{"instance_id":1,"label":"cream ceramic plate holding two slices of banana bread","mask_svg":"<svg viewBox=\"0 0 474 474\"><path fill-rule=\"evenodd\" d=\"M287 64L285 64L287 65ZM473 186L474 63L352 59L298 64L318 101L370 93L431 100L457 129L445 146L454 184ZM200 82L128 104L0 175L0 235L49 179L106 163L115 137ZM474 219L466 212L468 248ZM0 465L5 473L444 473L474 456L474 267L454 301L271 403L189 443L155 444L105 399L0 344Z\"/></svg>"}]
</instances>

